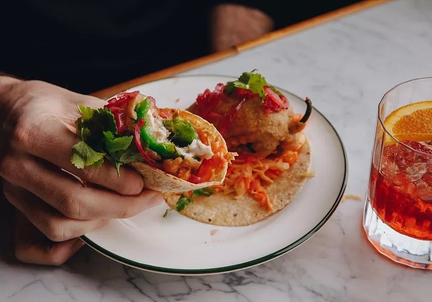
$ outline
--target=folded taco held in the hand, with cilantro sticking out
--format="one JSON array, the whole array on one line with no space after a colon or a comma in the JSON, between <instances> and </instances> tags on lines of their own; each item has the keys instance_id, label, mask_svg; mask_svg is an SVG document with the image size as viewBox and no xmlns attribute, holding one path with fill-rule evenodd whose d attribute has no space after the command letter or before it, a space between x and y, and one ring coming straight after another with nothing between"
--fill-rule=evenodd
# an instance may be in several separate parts
<instances>
[{"instance_id":1,"label":"folded taco held in the hand, with cilantro sticking out","mask_svg":"<svg viewBox=\"0 0 432 302\"><path fill-rule=\"evenodd\" d=\"M98 168L104 160L130 165L145 187L181 192L223 182L235 153L219 131L191 112L158 108L139 91L121 93L103 108L78 106L76 121L81 141L73 146L71 162L77 168Z\"/></svg>"}]
</instances>

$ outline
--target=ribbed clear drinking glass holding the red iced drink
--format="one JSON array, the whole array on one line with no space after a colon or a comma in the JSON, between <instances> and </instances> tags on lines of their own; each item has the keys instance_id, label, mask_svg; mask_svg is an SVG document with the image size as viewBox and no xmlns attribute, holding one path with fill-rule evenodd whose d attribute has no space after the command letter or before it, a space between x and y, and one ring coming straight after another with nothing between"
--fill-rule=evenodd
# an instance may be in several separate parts
<instances>
[{"instance_id":1,"label":"ribbed clear drinking glass holding the red iced drink","mask_svg":"<svg viewBox=\"0 0 432 302\"><path fill-rule=\"evenodd\" d=\"M395 86L379 103L363 227L380 253L432 269L432 141L398 140L384 126L394 110L429 100L432 78L421 78ZM432 114L423 119L432 123Z\"/></svg>"}]
</instances>

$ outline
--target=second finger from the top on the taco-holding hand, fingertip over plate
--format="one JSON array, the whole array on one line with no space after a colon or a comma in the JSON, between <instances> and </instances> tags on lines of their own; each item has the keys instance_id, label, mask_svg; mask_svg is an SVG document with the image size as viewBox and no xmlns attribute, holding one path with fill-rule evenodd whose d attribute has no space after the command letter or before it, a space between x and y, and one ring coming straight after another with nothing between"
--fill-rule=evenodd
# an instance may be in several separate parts
<instances>
[{"instance_id":1,"label":"second finger from the top on the taco-holding hand, fingertip over plate","mask_svg":"<svg viewBox=\"0 0 432 302\"><path fill-rule=\"evenodd\" d=\"M3 171L9 173L2 173ZM71 177L51 171L25 155L4 157L0 174L7 181L29 190L72 219L132 217L163 201L161 193L152 190L127 196L83 187Z\"/></svg>"}]
</instances>

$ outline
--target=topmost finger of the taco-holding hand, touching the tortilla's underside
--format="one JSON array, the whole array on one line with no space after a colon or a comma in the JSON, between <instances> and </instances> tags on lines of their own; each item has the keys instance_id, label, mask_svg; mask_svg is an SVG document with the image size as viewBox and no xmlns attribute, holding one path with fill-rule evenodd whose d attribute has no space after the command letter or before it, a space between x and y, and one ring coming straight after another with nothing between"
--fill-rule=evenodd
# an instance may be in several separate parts
<instances>
[{"instance_id":1,"label":"topmost finger of the taco-holding hand, touching the tortilla's underside","mask_svg":"<svg viewBox=\"0 0 432 302\"><path fill-rule=\"evenodd\" d=\"M73 109L76 110L76 109ZM105 160L102 167L78 169L70 163L72 146L80 141L58 118L45 116L43 119L30 119L17 125L13 137L14 147L78 176L79 178L109 188L120 194L136 195L144 187L141 175L132 168L122 166L120 177L113 165Z\"/></svg>"}]
</instances>

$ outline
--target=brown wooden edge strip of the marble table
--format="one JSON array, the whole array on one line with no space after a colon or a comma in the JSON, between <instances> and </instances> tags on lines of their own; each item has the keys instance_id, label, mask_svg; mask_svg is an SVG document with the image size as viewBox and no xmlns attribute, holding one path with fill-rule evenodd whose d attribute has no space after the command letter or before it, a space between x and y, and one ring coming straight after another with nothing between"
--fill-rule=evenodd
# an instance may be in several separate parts
<instances>
[{"instance_id":1,"label":"brown wooden edge strip of the marble table","mask_svg":"<svg viewBox=\"0 0 432 302\"><path fill-rule=\"evenodd\" d=\"M135 87L144 83L148 83L155 80L160 80L168 77L172 77L175 74L197 68L209 63L213 63L231 56L234 56L238 54L239 52L263 45L265 43L272 42L277 39L281 39L283 37L293 35L295 33L298 33L300 31L304 31L307 29L310 29L312 27L343 18L347 15L355 14L360 11L372 8L374 6L378 6L387 2L390 2L391 0L363 0L361 2L337 9L332 12L328 12L301 22L298 22L293 25L289 25L285 28L272 31L268 34L265 34L257 39L247 41L238 45L235 45L234 47L230 49L226 49L223 51L215 52L200 58L193 59L191 61L187 61L172 67L168 67L165 69L161 69L156 72L152 72L146 75L143 75L142 77L132 79L117 85L114 85L109 88L105 88L99 91L96 91L92 93L92 96L95 96L100 99L106 99L113 95L116 95L122 91L125 91L131 87Z\"/></svg>"}]
</instances>

